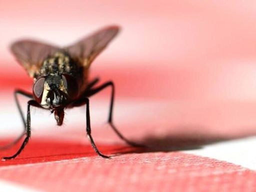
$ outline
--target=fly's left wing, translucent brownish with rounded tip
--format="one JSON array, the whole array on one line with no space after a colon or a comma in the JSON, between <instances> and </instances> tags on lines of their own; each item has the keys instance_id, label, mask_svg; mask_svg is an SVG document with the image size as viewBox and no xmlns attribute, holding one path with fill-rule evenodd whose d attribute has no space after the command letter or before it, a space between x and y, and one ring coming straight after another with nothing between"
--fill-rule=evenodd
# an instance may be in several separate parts
<instances>
[{"instance_id":1,"label":"fly's left wing, translucent brownish with rounded tip","mask_svg":"<svg viewBox=\"0 0 256 192\"><path fill-rule=\"evenodd\" d=\"M34 77L42 64L42 61L48 55L56 52L59 48L27 39L13 42L10 49L17 61L25 68L28 75Z\"/></svg>"}]
</instances>

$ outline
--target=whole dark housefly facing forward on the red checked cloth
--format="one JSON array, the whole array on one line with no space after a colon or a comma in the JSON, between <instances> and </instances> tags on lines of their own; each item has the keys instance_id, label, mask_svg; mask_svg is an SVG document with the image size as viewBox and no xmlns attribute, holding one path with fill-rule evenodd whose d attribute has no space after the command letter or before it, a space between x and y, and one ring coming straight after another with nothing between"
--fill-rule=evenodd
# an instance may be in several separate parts
<instances>
[{"instance_id":1,"label":"whole dark housefly facing forward on the red checked cloth","mask_svg":"<svg viewBox=\"0 0 256 192\"><path fill-rule=\"evenodd\" d=\"M57 125L61 125L64 118L64 110L75 106L86 105L86 133L95 152L105 158L96 147L91 136L89 96L106 87L111 88L110 108L108 123L115 133L126 143L139 146L129 141L116 129L112 123L112 110L114 101L114 84L107 81L96 85L99 81L95 78L88 80L89 67L95 57L108 45L118 33L118 26L104 27L89 36L82 38L74 44L66 47L57 47L35 40L18 40L11 44L11 52L17 61L23 66L27 74L33 78L32 93L17 89L14 98L21 115L24 132L9 146L24 137L20 148L15 154L3 157L3 159L15 158L27 144L31 136L30 106L50 110L54 113ZM26 118L24 117L17 95L28 97Z\"/></svg>"}]
</instances>

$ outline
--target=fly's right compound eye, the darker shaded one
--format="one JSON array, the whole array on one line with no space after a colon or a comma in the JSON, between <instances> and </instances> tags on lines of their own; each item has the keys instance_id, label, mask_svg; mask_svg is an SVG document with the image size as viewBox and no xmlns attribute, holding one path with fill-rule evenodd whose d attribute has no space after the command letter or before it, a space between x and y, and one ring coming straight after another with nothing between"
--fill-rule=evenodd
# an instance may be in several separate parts
<instances>
[{"instance_id":1,"label":"fly's right compound eye, the darker shaded one","mask_svg":"<svg viewBox=\"0 0 256 192\"><path fill-rule=\"evenodd\" d=\"M78 94L78 84L76 79L68 74L62 74L62 80L66 88L68 96L73 99Z\"/></svg>"}]
</instances>

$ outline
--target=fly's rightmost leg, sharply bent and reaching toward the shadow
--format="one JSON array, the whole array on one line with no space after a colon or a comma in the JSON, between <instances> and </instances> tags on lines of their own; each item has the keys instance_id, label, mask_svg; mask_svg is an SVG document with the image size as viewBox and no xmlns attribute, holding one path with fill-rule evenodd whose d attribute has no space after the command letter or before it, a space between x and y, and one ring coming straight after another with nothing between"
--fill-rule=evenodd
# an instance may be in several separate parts
<instances>
[{"instance_id":1,"label":"fly's rightmost leg, sharply bent and reaching toward the shadow","mask_svg":"<svg viewBox=\"0 0 256 192\"><path fill-rule=\"evenodd\" d=\"M114 130L114 132L122 139L124 140L127 144L131 145L131 146L137 146L137 147L144 147L144 145L142 144L138 144L135 142L132 142L130 140L128 140L127 138L125 138L115 127L115 125L112 122L112 114L113 114L113 102L114 102L114 84L112 81L107 81L105 83L103 83L102 85L92 88L90 90L88 90L87 94L88 96L91 96L93 94L96 94L97 92L101 91L102 89L106 88L110 86L111 87L111 99L110 99L110 108L109 108L109 113L108 113L108 120L107 122L109 123L109 125L111 126L111 128Z\"/></svg>"}]
</instances>

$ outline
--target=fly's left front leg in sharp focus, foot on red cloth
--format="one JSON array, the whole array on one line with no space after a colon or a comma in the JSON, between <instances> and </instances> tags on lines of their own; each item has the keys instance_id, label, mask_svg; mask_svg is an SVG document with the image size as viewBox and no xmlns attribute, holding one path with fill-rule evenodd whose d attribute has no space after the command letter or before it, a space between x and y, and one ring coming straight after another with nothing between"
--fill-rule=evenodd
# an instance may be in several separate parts
<instances>
[{"instance_id":1,"label":"fly's left front leg in sharp focus, foot on red cloth","mask_svg":"<svg viewBox=\"0 0 256 192\"><path fill-rule=\"evenodd\" d=\"M27 113L26 113L26 123L25 123L25 135L26 135L26 137L25 137L25 139L23 140L20 148L17 150L17 152L15 154L13 154L12 156L2 157L3 160L15 158L23 150L23 148L27 144L28 139L31 135L31 128L30 128L30 106L31 105L39 107L39 104L35 100L29 100L27 102Z\"/></svg>"}]
</instances>

